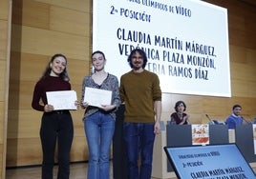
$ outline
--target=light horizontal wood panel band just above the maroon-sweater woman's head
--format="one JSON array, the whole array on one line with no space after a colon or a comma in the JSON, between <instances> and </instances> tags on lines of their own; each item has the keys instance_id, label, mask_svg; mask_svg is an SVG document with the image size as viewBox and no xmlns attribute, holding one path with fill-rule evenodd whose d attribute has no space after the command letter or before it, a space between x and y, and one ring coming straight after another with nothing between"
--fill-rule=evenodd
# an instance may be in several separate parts
<instances>
[{"instance_id":1,"label":"light horizontal wood panel band just above the maroon-sweater woman's head","mask_svg":"<svg viewBox=\"0 0 256 179\"><path fill-rule=\"evenodd\" d=\"M90 46L89 37L86 36L17 25L12 25L11 30L13 51L50 55L63 52L69 58L84 59L85 50Z\"/></svg>"}]
</instances>

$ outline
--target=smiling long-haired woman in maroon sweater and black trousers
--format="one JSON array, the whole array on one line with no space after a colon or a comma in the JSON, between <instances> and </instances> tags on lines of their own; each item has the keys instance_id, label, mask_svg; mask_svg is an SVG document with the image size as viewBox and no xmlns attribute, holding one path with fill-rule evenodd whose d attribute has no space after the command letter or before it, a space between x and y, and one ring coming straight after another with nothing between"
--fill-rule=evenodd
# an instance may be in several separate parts
<instances>
[{"instance_id":1,"label":"smiling long-haired woman in maroon sweater and black trousers","mask_svg":"<svg viewBox=\"0 0 256 179\"><path fill-rule=\"evenodd\" d=\"M40 138L43 150L42 179L53 179L54 151L58 145L58 179L67 179L70 175L70 150L74 136L74 126L69 110L53 110L47 103L46 92L70 90L67 72L67 58L63 54L54 54L40 80L36 83L32 108L43 111ZM77 106L77 102L75 102Z\"/></svg>"}]
</instances>

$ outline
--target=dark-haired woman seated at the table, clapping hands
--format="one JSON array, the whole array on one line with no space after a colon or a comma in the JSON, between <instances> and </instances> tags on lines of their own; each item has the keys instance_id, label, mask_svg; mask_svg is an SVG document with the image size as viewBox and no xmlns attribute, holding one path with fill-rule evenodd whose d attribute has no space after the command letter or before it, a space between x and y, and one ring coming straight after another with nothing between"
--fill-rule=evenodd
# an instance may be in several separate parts
<instances>
[{"instance_id":1,"label":"dark-haired woman seated at the table, clapping hands","mask_svg":"<svg viewBox=\"0 0 256 179\"><path fill-rule=\"evenodd\" d=\"M170 116L171 124L176 125L189 125L189 115L185 113L186 105L183 101L177 101L174 109L176 112L173 112Z\"/></svg>"}]
</instances>

